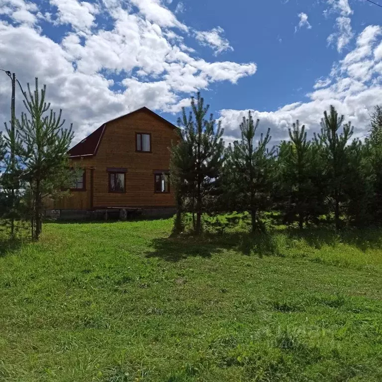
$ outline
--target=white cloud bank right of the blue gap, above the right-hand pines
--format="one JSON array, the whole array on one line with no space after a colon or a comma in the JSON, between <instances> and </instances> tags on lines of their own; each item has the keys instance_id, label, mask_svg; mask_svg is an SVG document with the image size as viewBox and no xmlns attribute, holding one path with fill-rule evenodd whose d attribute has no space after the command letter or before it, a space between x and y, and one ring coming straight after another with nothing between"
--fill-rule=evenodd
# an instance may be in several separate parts
<instances>
[{"instance_id":1,"label":"white cloud bank right of the blue gap, above the right-hand pines","mask_svg":"<svg viewBox=\"0 0 382 382\"><path fill-rule=\"evenodd\" d=\"M287 138L287 128L299 119L311 135L319 131L323 111L333 104L355 127L355 136L368 133L369 115L382 103L381 27L368 26L357 38L357 46L333 69L328 78L316 81L308 102L295 102L276 111L252 110L260 129L271 128L273 143ZM248 110L223 109L220 119L229 141L240 138L239 123Z\"/></svg>"}]
</instances>

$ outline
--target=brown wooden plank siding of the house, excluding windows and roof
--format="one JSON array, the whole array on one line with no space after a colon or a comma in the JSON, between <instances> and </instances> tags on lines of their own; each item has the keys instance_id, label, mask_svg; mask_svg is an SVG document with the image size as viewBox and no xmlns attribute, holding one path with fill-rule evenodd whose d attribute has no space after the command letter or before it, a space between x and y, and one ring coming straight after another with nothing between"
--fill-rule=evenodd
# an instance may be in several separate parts
<instances>
[{"instance_id":1,"label":"brown wooden plank siding of the house, excluding windows and roof","mask_svg":"<svg viewBox=\"0 0 382 382\"><path fill-rule=\"evenodd\" d=\"M135 151L135 133L151 133L151 152ZM173 207L174 193L154 192L154 171L169 169L176 130L150 112L140 111L108 122L94 157L76 158L86 169L86 191L46 203L52 209L91 209L91 168L94 168L93 207ZM108 168L126 168L126 192L108 192ZM172 188L170 188L171 190Z\"/></svg>"}]
</instances>

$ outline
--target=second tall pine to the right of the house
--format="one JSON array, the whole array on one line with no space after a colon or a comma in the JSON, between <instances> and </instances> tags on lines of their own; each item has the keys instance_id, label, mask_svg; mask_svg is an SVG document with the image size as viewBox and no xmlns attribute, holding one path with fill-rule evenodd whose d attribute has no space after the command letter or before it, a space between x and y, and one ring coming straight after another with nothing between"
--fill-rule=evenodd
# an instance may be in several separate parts
<instances>
[{"instance_id":1,"label":"second tall pine to the right of the house","mask_svg":"<svg viewBox=\"0 0 382 382\"><path fill-rule=\"evenodd\" d=\"M240 124L241 141L235 141L227 150L225 176L232 183L236 199L236 209L247 210L251 214L252 230L261 228L258 213L265 209L269 202L272 187L273 156L275 149L267 149L271 141L270 129L260 134L255 145L256 130L260 120L254 121L251 112L248 118L243 117Z\"/></svg>"}]
</instances>

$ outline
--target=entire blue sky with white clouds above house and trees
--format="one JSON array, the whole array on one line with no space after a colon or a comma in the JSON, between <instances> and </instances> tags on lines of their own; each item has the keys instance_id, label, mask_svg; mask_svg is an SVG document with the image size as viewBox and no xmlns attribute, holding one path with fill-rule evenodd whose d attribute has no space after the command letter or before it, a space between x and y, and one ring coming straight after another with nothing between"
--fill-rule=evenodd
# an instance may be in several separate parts
<instances>
[{"instance_id":1,"label":"entire blue sky with white clouds above house and trees","mask_svg":"<svg viewBox=\"0 0 382 382\"><path fill-rule=\"evenodd\" d=\"M317 130L331 103L364 136L382 103L381 20L366 0L0 0L0 67L46 83L76 141L143 105L176 122L199 90L227 141L248 110L277 142L296 118Z\"/></svg>"}]
</instances>

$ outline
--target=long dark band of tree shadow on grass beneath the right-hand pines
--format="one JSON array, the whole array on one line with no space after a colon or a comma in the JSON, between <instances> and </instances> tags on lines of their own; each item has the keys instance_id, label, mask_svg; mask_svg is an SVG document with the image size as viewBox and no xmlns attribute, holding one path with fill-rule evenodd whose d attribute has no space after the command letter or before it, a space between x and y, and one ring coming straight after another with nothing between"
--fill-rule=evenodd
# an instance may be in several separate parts
<instances>
[{"instance_id":1,"label":"long dark band of tree shadow on grass beneath the right-hand pines","mask_svg":"<svg viewBox=\"0 0 382 382\"><path fill-rule=\"evenodd\" d=\"M204 232L199 237L188 234L172 235L169 238L153 240L153 250L147 252L146 256L179 261L190 256L209 258L223 250L235 250L243 255L259 258L285 257L285 246L288 246L289 241L294 245L295 239L303 239L307 245L315 249L321 249L323 246L335 247L341 243L354 246L361 251L382 248L382 230L378 228L347 229L337 232L330 227L310 227L302 230L286 227L257 234L241 231L223 234Z\"/></svg>"}]
</instances>

